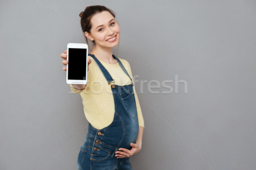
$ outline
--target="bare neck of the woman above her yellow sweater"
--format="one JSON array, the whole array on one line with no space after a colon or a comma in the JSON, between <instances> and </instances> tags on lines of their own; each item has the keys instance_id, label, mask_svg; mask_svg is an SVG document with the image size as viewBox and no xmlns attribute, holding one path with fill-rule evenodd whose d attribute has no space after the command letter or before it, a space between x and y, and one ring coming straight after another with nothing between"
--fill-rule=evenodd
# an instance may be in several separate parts
<instances>
[{"instance_id":1,"label":"bare neck of the woman above her yellow sweater","mask_svg":"<svg viewBox=\"0 0 256 170\"><path fill-rule=\"evenodd\" d=\"M94 46L93 51L90 52L96 58L108 63L108 64L116 64L117 61L112 57L113 50L112 48L102 48L97 45Z\"/></svg>"}]
</instances>

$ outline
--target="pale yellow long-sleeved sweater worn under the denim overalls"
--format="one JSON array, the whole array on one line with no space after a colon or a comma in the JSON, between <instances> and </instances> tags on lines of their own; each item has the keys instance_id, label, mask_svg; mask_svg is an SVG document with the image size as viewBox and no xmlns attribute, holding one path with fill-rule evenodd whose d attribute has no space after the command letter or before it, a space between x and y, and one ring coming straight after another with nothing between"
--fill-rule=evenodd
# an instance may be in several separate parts
<instances>
[{"instance_id":1,"label":"pale yellow long-sleeved sweater worn under the denim overalls","mask_svg":"<svg viewBox=\"0 0 256 170\"><path fill-rule=\"evenodd\" d=\"M87 75L88 82L85 89L80 91L76 88L73 88L72 85L70 85L70 88L73 93L81 95L84 105L84 115L87 121L90 122L93 127L102 129L113 122L115 111L114 99L111 85L109 85L106 81L95 60L90 56L88 57L92 62L89 65L89 71ZM133 79L131 67L128 61L120 58L119 60L122 62L130 77ZM116 85L131 84L131 79L125 74L119 63L108 64L100 59L99 61L107 69L111 77L115 80ZM135 86L133 87L139 126L144 128L144 119L140 108L140 102L135 91Z\"/></svg>"}]
</instances>

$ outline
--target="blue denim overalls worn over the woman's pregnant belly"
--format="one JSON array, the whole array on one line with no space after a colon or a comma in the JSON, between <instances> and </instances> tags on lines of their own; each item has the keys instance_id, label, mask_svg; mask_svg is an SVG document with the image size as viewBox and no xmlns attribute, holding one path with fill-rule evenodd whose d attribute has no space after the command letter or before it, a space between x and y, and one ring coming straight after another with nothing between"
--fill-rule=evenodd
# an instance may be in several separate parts
<instances>
[{"instance_id":1,"label":"blue denim overalls worn over the woman's pregnant belly","mask_svg":"<svg viewBox=\"0 0 256 170\"><path fill-rule=\"evenodd\" d=\"M130 150L130 143L136 143L139 133L139 122L135 103L133 83L130 85L115 85L109 72L93 55L108 85L111 85L115 103L113 122L103 129L96 129L90 123L88 134L80 147L77 160L78 170L132 170L128 158L115 157L115 152L120 148ZM122 70L131 79L120 60L113 55ZM132 79L131 79L132 81ZM107 101L106 101L107 102Z\"/></svg>"}]
</instances>

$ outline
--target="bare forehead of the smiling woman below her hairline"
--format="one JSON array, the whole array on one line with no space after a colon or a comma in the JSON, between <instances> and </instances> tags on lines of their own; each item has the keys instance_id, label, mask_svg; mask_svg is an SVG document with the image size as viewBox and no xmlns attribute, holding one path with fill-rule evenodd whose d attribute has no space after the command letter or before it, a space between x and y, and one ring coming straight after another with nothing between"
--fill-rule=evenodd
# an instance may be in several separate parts
<instances>
[{"instance_id":1,"label":"bare forehead of the smiling woman below her hairline","mask_svg":"<svg viewBox=\"0 0 256 170\"><path fill-rule=\"evenodd\" d=\"M114 19L114 17L109 11L102 11L101 13L95 14L91 18L92 28L108 24L108 22L112 19Z\"/></svg>"}]
</instances>

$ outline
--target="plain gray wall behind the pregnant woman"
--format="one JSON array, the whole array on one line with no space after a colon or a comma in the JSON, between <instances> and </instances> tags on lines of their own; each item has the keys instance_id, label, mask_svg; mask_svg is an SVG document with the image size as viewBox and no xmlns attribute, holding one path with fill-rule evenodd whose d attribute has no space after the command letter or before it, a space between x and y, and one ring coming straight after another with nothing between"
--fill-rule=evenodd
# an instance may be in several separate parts
<instances>
[{"instance_id":1,"label":"plain gray wall behind the pregnant woman","mask_svg":"<svg viewBox=\"0 0 256 170\"><path fill-rule=\"evenodd\" d=\"M255 0L1 0L0 169L76 169L88 123L59 55L84 42L79 13L96 4L116 13L113 53L139 76L134 170L256 169ZM148 91L175 75L187 94Z\"/></svg>"}]
</instances>

